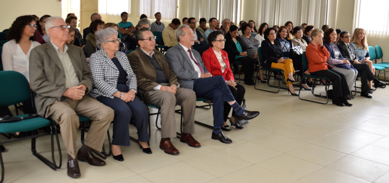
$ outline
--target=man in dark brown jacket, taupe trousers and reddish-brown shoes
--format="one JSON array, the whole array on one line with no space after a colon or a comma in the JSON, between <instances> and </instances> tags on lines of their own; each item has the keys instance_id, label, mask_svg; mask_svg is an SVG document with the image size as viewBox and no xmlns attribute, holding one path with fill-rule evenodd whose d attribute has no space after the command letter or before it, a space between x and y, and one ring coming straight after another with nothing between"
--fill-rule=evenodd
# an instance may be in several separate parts
<instances>
[{"instance_id":1,"label":"man in dark brown jacket, taupe trousers and reddish-brown shoes","mask_svg":"<svg viewBox=\"0 0 389 183\"><path fill-rule=\"evenodd\" d=\"M200 143L192 136L195 133L195 92L179 87L177 75L169 67L163 54L154 50L156 36L150 30L138 30L136 39L140 48L129 53L127 57L137 76L138 88L144 91L146 102L161 108L162 138L159 148L167 154L179 153L170 141L170 138L176 137L176 104L181 105L183 112L180 141L191 147L200 147Z\"/></svg>"}]
</instances>

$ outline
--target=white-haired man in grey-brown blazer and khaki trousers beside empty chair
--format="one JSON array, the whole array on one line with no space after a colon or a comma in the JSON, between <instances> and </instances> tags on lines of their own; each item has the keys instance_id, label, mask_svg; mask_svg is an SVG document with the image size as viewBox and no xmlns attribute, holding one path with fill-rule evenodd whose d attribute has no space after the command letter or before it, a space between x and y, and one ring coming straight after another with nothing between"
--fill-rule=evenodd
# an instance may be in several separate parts
<instances>
[{"instance_id":1,"label":"white-haired man in grey-brown blazer and khaki trousers beside empty chair","mask_svg":"<svg viewBox=\"0 0 389 183\"><path fill-rule=\"evenodd\" d=\"M35 47L30 55L30 82L36 92L36 109L40 116L48 117L60 126L61 136L68 154L68 176L81 176L78 160L93 166L106 162L95 157L91 149L101 151L106 131L113 120L113 110L89 94L93 79L84 52L67 46L70 26L61 17L46 20L50 41ZM84 145L75 151L79 117L88 117L92 123Z\"/></svg>"}]
</instances>

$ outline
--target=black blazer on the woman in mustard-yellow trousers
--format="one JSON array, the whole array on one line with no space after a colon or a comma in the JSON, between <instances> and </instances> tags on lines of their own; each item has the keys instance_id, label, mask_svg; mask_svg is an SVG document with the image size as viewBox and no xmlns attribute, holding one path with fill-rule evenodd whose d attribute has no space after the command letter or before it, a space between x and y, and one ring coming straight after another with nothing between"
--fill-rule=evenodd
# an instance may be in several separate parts
<instances>
[{"instance_id":1,"label":"black blazer on the woman in mustard-yellow trousers","mask_svg":"<svg viewBox=\"0 0 389 183\"><path fill-rule=\"evenodd\" d=\"M281 51L281 44L278 40L274 40L274 48L268 39L262 41L261 52L262 60L260 65L265 68L270 68L271 63L277 63L278 59L283 57L283 53Z\"/></svg>"}]
</instances>

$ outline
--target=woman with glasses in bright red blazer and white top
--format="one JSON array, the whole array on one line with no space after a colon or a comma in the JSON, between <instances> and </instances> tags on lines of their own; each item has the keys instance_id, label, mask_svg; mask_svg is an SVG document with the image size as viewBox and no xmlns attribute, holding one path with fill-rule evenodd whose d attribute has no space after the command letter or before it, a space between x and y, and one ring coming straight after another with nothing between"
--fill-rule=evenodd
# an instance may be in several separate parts
<instances>
[{"instance_id":1,"label":"woman with glasses in bright red blazer and white top","mask_svg":"<svg viewBox=\"0 0 389 183\"><path fill-rule=\"evenodd\" d=\"M223 76L232 95L236 102L242 105L243 98L245 97L246 89L239 83L235 83L234 75L232 74L230 62L228 60L227 52L224 49L226 39L224 39L223 32L214 31L208 35L208 44L210 48L203 52L201 59L204 62L204 66L207 67L208 71L212 76ZM227 116L230 114L231 106L228 103L224 104L224 126L222 130L230 131L231 129L227 125ZM242 129L243 126L238 126L235 121L235 112L232 111L230 118L231 126Z\"/></svg>"}]
</instances>

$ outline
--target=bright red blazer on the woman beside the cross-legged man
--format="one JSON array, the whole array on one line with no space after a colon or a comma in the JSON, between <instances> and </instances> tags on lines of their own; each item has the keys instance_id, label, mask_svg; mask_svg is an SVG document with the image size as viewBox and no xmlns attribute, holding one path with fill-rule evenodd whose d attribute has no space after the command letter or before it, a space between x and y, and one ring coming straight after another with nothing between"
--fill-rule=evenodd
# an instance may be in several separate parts
<instances>
[{"instance_id":1,"label":"bright red blazer on the woman beside the cross-legged man","mask_svg":"<svg viewBox=\"0 0 389 183\"><path fill-rule=\"evenodd\" d=\"M230 61L228 60L228 54L225 50L220 50L222 52L222 59L224 63L226 63L227 68L224 69L222 73L222 67L220 66L219 61L216 58L215 52L210 47L208 50L204 51L201 59L204 62L204 66L207 67L208 71L212 74L212 76L223 76L224 80L230 81L234 80L234 75L232 74Z\"/></svg>"}]
</instances>

